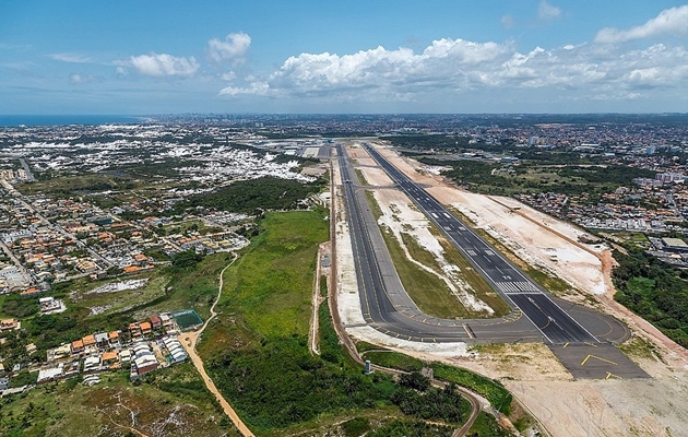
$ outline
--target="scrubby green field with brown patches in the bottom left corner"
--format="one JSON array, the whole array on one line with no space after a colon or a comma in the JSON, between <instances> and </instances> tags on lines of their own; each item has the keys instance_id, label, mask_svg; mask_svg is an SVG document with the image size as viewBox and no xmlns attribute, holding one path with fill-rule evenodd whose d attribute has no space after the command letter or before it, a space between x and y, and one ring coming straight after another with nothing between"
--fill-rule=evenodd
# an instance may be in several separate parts
<instances>
[{"instance_id":1,"label":"scrubby green field with brown patches in the bottom left corner","mask_svg":"<svg viewBox=\"0 0 688 437\"><path fill-rule=\"evenodd\" d=\"M134 414L135 429L146 435L174 416L164 425L167 436L238 436L222 423L216 401L190 364L161 369L137 387L126 373L104 373L100 379L100 385L85 387L81 378L72 378L1 399L0 435L126 437Z\"/></svg>"}]
</instances>

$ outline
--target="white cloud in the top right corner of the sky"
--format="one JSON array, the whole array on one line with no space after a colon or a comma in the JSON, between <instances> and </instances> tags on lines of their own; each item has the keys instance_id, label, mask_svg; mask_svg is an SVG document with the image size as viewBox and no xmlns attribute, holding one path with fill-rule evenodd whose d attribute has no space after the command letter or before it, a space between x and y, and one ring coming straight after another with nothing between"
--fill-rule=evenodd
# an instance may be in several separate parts
<instances>
[{"instance_id":1,"label":"white cloud in the top right corner of the sky","mask_svg":"<svg viewBox=\"0 0 688 437\"><path fill-rule=\"evenodd\" d=\"M665 9L644 24L625 31L614 27L603 28L595 36L595 43L626 43L661 35L686 34L688 34L688 4Z\"/></svg>"}]
</instances>

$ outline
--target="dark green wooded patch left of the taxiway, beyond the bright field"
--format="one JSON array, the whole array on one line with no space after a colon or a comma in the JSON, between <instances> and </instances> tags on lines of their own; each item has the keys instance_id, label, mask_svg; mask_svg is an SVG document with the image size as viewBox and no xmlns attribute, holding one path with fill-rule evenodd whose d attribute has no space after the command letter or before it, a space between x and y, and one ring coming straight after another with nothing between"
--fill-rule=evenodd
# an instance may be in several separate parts
<instances>
[{"instance_id":1,"label":"dark green wooded patch left of the taxiway, beyond the bright field","mask_svg":"<svg viewBox=\"0 0 688 437\"><path fill-rule=\"evenodd\" d=\"M276 177L239 180L212 193L189 197L177 203L175 211L204 206L260 215L260 211L264 210L294 210L303 205L304 199L320 192L323 187L322 180L309 184Z\"/></svg>"}]
</instances>

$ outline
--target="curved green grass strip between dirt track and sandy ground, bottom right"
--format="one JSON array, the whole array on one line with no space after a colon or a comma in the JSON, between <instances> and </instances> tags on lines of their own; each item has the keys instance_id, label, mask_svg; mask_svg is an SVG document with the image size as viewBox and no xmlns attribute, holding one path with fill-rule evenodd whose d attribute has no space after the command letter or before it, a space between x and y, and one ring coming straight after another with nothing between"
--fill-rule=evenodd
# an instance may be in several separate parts
<instances>
[{"instance_id":1,"label":"curved green grass strip between dirt track and sandy ground, bottom right","mask_svg":"<svg viewBox=\"0 0 688 437\"><path fill-rule=\"evenodd\" d=\"M503 414L509 414L513 400L509 390L501 382L489 379L471 370L449 366L442 363L432 363L431 366L437 379L454 382L466 387L485 397L494 408Z\"/></svg>"}]
</instances>

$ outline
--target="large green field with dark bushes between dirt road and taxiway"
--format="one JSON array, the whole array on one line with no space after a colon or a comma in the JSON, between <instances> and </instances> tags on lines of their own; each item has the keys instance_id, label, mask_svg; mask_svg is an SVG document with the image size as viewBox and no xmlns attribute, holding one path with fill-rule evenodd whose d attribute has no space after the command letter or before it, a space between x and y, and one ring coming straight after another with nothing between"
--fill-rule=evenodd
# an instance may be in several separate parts
<instances>
[{"instance_id":1,"label":"large green field with dark bushes between dirt road and taxiway","mask_svg":"<svg viewBox=\"0 0 688 437\"><path fill-rule=\"evenodd\" d=\"M303 433L337 416L349 418L342 429L353 434L372 420L352 417L379 424L378 417L403 416L400 409L426 420L465 417L465 401L451 398L455 393L420 394L385 375L364 375L339 345L327 305L319 308L322 355L308 353L317 248L328 238L323 214L266 214L263 233L225 273L221 316L199 345L217 387L258 435ZM427 406L447 402L452 406Z\"/></svg>"}]
</instances>

